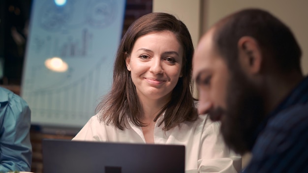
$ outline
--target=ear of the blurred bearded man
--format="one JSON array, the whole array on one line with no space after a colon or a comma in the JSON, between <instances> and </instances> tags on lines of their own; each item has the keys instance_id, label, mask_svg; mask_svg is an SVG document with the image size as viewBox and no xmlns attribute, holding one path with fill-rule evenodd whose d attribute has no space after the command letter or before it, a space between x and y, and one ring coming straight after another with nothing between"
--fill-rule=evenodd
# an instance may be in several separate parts
<instances>
[{"instance_id":1,"label":"ear of the blurred bearded man","mask_svg":"<svg viewBox=\"0 0 308 173\"><path fill-rule=\"evenodd\" d=\"M238 50L242 68L249 74L259 73L262 54L257 41L250 36L244 36L238 41Z\"/></svg>"}]
</instances>

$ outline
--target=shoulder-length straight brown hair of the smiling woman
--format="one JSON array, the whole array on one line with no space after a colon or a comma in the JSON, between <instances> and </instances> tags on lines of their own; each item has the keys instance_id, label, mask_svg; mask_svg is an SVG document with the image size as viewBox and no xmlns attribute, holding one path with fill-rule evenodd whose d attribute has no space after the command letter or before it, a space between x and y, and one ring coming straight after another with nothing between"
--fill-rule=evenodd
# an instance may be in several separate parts
<instances>
[{"instance_id":1,"label":"shoulder-length straight brown hair of the smiling woman","mask_svg":"<svg viewBox=\"0 0 308 173\"><path fill-rule=\"evenodd\" d=\"M182 74L172 91L170 101L156 115L154 121L164 112L164 130L170 130L184 121L194 121L197 111L192 97L192 56L194 53L191 36L185 24L167 13L149 13L137 19L124 34L114 64L111 91L96 107L100 120L123 130L127 121L143 127L143 109L138 100L136 88L126 69L125 58L131 53L135 41L150 32L173 32L184 50ZM161 123L159 125L161 125Z\"/></svg>"}]
</instances>

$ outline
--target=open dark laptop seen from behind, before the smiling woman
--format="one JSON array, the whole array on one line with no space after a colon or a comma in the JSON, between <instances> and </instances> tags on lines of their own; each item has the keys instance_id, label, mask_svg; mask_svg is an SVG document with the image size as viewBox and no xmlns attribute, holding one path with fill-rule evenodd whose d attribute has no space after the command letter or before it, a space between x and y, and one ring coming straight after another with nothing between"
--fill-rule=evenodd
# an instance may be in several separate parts
<instances>
[{"instance_id":1,"label":"open dark laptop seen from behind, before the smiling woman","mask_svg":"<svg viewBox=\"0 0 308 173\"><path fill-rule=\"evenodd\" d=\"M44 173L185 173L185 146L43 139Z\"/></svg>"}]
</instances>

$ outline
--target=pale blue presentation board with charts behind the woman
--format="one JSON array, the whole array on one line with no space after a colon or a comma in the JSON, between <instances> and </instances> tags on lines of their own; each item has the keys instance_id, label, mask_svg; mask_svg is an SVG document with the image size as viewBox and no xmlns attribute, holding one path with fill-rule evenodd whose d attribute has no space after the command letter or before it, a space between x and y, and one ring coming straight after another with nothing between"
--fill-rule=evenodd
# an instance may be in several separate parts
<instances>
[{"instance_id":1,"label":"pale blue presentation board with charts behind the woman","mask_svg":"<svg viewBox=\"0 0 308 173\"><path fill-rule=\"evenodd\" d=\"M31 123L82 127L111 86L125 0L33 0L22 97ZM64 72L44 65L60 57Z\"/></svg>"}]
</instances>

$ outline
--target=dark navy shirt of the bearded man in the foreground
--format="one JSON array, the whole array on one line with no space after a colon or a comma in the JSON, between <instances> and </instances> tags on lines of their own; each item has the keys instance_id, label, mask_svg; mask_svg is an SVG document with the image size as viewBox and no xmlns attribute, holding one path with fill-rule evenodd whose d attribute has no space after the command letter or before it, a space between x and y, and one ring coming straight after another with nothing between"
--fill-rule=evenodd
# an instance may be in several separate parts
<instances>
[{"instance_id":1,"label":"dark navy shirt of the bearded man in the foreground","mask_svg":"<svg viewBox=\"0 0 308 173\"><path fill-rule=\"evenodd\" d=\"M308 77L258 129L244 173L308 173Z\"/></svg>"}]
</instances>

